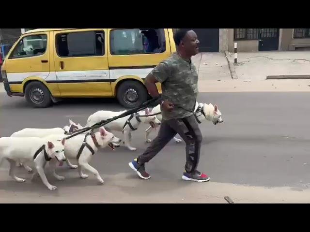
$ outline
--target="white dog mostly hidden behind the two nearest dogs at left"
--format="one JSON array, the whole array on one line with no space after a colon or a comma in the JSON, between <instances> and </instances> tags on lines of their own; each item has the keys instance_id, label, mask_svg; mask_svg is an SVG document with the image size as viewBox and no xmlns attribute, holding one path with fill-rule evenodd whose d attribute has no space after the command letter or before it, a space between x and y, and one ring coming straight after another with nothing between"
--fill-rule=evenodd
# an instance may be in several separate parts
<instances>
[{"instance_id":1,"label":"white dog mostly hidden behind the two nearest dogs at left","mask_svg":"<svg viewBox=\"0 0 310 232\"><path fill-rule=\"evenodd\" d=\"M11 137L38 137L43 138L51 134L68 134L72 133L74 131L77 131L79 129L83 129L83 127L78 123L73 122L71 119L69 119L69 126L64 126L63 128L56 127L56 128L48 128L48 129L41 129L41 128L25 128L20 131L14 132ZM17 160L17 166L24 166L24 168L31 173L32 169L25 163L22 163L20 160ZM72 168L76 169L77 165L72 165L69 160L66 160L67 165Z\"/></svg>"}]
</instances>

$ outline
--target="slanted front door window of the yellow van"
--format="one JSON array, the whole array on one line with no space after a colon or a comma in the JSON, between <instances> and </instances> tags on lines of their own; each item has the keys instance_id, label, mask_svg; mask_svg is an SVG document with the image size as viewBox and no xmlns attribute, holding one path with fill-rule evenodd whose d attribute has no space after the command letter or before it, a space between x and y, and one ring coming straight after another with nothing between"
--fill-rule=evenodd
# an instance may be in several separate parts
<instances>
[{"instance_id":1,"label":"slanted front door window of the yellow van","mask_svg":"<svg viewBox=\"0 0 310 232\"><path fill-rule=\"evenodd\" d=\"M21 39L10 55L13 58L35 57L47 50L47 35L30 35Z\"/></svg>"}]
</instances>

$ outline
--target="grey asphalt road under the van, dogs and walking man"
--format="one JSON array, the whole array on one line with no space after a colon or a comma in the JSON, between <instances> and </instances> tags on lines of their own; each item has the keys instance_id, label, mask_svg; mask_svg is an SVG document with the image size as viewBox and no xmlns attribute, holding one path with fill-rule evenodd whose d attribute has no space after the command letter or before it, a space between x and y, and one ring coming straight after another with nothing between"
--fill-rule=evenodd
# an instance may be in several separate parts
<instances>
[{"instance_id":1,"label":"grey asphalt road under the van, dogs and walking man","mask_svg":"<svg viewBox=\"0 0 310 232\"><path fill-rule=\"evenodd\" d=\"M217 183L267 188L283 186L308 188L309 97L310 93L302 92L200 93L199 102L216 103L222 112L224 122L216 126L211 122L201 124L203 142L198 169L210 175L211 181ZM68 124L69 118L84 125L89 115L101 109L122 110L112 99L66 100L50 108L33 109L23 98L9 98L6 94L0 93L0 136L10 136L23 128L62 127ZM95 155L91 162L105 179L105 183L109 183L112 177L119 178L120 181L125 180L114 185L126 194L148 193L148 189L142 189L143 184L139 184L141 188L135 190L131 188L133 186L130 185L130 181L138 183L138 180L128 167L128 162L142 153L147 146L144 143L146 128L147 125L143 125L138 131L133 132L132 144L138 148L136 152L131 152L125 147L120 147L115 152L105 148ZM115 135L121 136L119 132ZM155 137L155 133L152 137ZM161 192L169 192L170 188L174 190L183 188L186 184L181 180L181 175L185 158L184 142L175 144L171 141L146 165L152 177L145 186L149 190L152 189L153 193L159 192L157 187L160 183L165 185L160 188ZM8 164L4 163L2 168L8 167ZM30 177L24 170L18 172L20 177ZM58 181L59 188L64 188L68 184L74 187L96 186L92 175L86 180L80 180L76 170L68 171L66 168L61 168L59 172L69 173L72 178L70 183L69 180ZM10 179L7 171L2 170L0 174L0 189L15 191L25 188L22 187L23 184ZM47 178L55 184L56 181L52 176ZM27 186L29 191L34 188ZM35 186L34 189L45 188L38 180Z\"/></svg>"}]
</instances>

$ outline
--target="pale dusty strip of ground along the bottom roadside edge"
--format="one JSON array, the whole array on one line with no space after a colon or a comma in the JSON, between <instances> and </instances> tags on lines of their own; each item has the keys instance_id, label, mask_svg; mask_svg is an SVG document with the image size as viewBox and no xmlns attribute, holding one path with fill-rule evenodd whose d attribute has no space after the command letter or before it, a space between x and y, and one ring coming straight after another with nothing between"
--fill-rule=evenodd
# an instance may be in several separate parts
<instances>
[{"instance_id":1,"label":"pale dusty strip of ground along the bottom roadside edge","mask_svg":"<svg viewBox=\"0 0 310 232\"><path fill-rule=\"evenodd\" d=\"M86 181L75 172L66 171L66 180L55 181L55 191L48 190L40 180L28 179L17 183L0 170L0 203L227 203L229 196L234 203L309 203L310 189L277 187L265 188L229 183L188 183L180 181L143 181L136 176L119 173L105 175L105 184ZM27 177L24 177L27 176ZM129 180L129 181L128 181Z\"/></svg>"}]
</instances>

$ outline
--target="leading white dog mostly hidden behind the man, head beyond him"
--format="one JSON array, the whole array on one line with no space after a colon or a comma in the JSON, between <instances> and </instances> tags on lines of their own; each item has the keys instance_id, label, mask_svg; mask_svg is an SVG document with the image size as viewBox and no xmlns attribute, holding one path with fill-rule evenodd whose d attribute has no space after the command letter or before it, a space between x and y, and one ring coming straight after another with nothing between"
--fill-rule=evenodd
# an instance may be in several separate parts
<instances>
[{"instance_id":1,"label":"leading white dog mostly hidden behind the man, head beyond him","mask_svg":"<svg viewBox=\"0 0 310 232\"><path fill-rule=\"evenodd\" d=\"M160 105L156 105L153 110L153 114L160 113ZM217 125L217 123L222 123L222 114L219 111L217 105L213 106L211 103L206 104L206 103L198 103L196 102L195 106L195 115L196 115L196 120L198 123L202 123L205 120L212 121L214 125ZM156 115L156 118L161 121L162 116L161 114ZM152 141L149 139L150 133L155 130L153 127L149 127L145 131L145 140L147 143L151 143ZM181 143L181 139L178 139L176 137L173 138L176 143Z\"/></svg>"}]
</instances>

